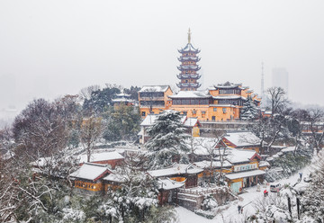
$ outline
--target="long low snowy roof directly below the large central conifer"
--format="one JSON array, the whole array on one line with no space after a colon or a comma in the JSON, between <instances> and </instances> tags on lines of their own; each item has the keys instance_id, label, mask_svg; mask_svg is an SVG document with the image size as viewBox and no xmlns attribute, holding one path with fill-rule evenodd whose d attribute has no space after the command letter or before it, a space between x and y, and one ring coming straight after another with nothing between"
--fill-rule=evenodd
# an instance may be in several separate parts
<instances>
[{"instance_id":1,"label":"long low snowy roof directly below the large central conifer","mask_svg":"<svg viewBox=\"0 0 324 223\"><path fill-rule=\"evenodd\" d=\"M175 164L169 168L148 171L148 174L154 177L161 177L176 174L199 174L202 171L201 168L195 167L194 165Z\"/></svg>"}]
</instances>

